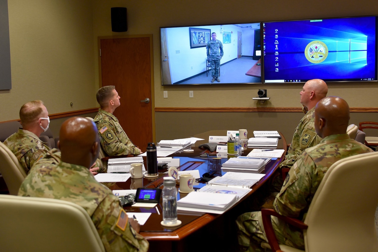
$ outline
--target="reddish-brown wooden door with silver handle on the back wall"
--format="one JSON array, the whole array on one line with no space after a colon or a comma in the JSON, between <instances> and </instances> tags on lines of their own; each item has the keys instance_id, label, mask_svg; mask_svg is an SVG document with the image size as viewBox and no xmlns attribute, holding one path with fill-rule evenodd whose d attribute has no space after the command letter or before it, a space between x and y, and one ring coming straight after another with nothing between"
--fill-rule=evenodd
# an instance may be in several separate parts
<instances>
[{"instance_id":1,"label":"reddish-brown wooden door with silver handle on the back wall","mask_svg":"<svg viewBox=\"0 0 378 252\"><path fill-rule=\"evenodd\" d=\"M115 85L121 97L113 114L133 144L145 152L155 139L152 35L99 37L99 47L101 86Z\"/></svg>"}]
</instances>

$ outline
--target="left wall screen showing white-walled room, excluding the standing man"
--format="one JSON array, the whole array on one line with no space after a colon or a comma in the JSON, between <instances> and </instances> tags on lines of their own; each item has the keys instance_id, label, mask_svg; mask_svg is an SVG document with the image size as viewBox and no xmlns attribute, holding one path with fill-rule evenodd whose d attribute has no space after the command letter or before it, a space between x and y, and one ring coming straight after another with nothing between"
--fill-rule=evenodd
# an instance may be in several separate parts
<instances>
[{"instance_id":1,"label":"left wall screen showing white-walled room, excluding the standing man","mask_svg":"<svg viewBox=\"0 0 378 252\"><path fill-rule=\"evenodd\" d=\"M261 57L260 25L258 22L161 27L162 85L262 83L258 63ZM220 82L211 82L212 70L206 55L206 45L213 32L223 45Z\"/></svg>"}]
</instances>

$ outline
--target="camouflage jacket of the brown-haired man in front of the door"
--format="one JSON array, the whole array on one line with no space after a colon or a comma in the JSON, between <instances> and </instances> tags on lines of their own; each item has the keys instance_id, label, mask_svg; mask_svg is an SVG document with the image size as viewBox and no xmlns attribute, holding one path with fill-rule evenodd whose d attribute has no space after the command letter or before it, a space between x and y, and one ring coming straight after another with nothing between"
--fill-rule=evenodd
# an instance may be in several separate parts
<instances>
[{"instance_id":1,"label":"camouflage jacket of the brown-haired man in front of the door","mask_svg":"<svg viewBox=\"0 0 378 252\"><path fill-rule=\"evenodd\" d=\"M102 149L107 155L140 154L113 114L99 109L93 121L99 130Z\"/></svg>"}]
</instances>

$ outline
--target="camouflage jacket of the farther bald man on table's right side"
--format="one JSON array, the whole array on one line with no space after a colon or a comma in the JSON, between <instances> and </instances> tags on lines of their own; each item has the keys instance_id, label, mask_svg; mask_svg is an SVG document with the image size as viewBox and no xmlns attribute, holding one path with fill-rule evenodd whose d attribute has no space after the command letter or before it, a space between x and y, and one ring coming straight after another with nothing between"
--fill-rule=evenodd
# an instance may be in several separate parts
<instances>
[{"instance_id":1,"label":"camouflage jacket of the farther bald man on table's right side","mask_svg":"<svg viewBox=\"0 0 378 252\"><path fill-rule=\"evenodd\" d=\"M299 124L294 131L291 145L287 150L285 160L281 162L280 168L290 168L294 164L295 159L299 155L301 155L305 148L315 146L319 144L319 142L322 140L322 138L318 136L318 134L316 134L314 127L314 119L315 107L311 108L305 114L305 116L302 117L301 121L299 121Z\"/></svg>"}]
</instances>

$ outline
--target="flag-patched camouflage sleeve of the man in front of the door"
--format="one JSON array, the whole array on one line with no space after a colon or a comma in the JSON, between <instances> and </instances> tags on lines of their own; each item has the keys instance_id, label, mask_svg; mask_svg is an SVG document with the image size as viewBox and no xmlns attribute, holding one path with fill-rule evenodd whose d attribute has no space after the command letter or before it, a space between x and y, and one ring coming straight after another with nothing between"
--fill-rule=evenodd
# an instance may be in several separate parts
<instances>
[{"instance_id":1,"label":"flag-patched camouflage sleeve of the man in front of the door","mask_svg":"<svg viewBox=\"0 0 378 252\"><path fill-rule=\"evenodd\" d=\"M103 128L104 126L107 127L107 130L104 132L99 132L100 134L100 142L102 149L107 153L109 156L116 156L116 155L136 155L140 154L139 150L135 148L133 144L127 145L121 142L115 132L115 129L110 126L110 124L99 123L98 128Z\"/></svg>"}]
</instances>

